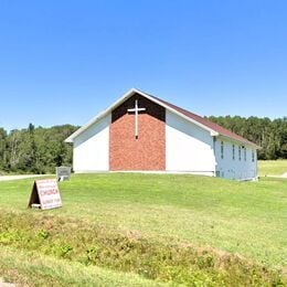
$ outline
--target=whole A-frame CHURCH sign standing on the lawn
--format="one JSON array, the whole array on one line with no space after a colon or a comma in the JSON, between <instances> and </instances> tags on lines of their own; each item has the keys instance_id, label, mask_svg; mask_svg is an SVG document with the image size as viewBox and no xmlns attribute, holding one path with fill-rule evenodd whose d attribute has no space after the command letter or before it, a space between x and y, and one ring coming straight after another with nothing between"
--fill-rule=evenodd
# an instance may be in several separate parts
<instances>
[{"instance_id":1,"label":"whole A-frame CHURCH sign standing on the lawn","mask_svg":"<svg viewBox=\"0 0 287 287\"><path fill-rule=\"evenodd\" d=\"M42 210L61 208L62 200L56 180L35 180L28 206Z\"/></svg>"}]
</instances>

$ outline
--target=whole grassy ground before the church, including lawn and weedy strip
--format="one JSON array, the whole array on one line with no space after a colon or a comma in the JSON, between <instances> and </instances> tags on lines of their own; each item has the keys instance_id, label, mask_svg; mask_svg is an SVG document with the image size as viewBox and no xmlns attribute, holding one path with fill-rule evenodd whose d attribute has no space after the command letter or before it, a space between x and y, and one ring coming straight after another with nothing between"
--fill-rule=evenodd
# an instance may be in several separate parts
<instances>
[{"instance_id":1,"label":"whole grassy ground before the church, including lawn and weedy strip","mask_svg":"<svg viewBox=\"0 0 287 287\"><path fill-rule=\"evenodd\" d=\"M60 183L64 206L45 212L26 209L32 182L0 182L0 277L7 280L29 286L286 283L286 179L79 174Z\"/></svg>"}]
</instances>

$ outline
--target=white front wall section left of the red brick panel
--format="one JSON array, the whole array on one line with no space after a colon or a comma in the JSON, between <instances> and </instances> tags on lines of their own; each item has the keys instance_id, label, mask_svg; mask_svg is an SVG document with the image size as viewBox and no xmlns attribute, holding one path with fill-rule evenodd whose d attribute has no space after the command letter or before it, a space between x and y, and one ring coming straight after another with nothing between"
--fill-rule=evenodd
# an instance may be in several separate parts
<instances>
[{"instance_id":1,"label":"white front wall section left of the red brick panel","mask_svg":"<svg viewBox=\"0 0 287 287\"><path fill-rule=\"evenodd\" d=\"M74 139L75 172L109 170L109 125L111 115L104 117Z\"/></svg>"}]
</instances>

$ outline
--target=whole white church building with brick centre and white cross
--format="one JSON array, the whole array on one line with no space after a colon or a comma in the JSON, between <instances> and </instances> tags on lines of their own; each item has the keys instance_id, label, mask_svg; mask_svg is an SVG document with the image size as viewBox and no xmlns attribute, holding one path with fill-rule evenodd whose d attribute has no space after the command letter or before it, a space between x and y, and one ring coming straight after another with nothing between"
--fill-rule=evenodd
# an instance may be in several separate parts
<instances>
[{"instance_id":1,"label":"whole white church building with brick centre and white cross","mask_svg":"<svg viewBox=\"0 0 287 287\"><path fill-rule=\"evenodd\" d=\"M247 139L183 108L131 88L71 135L75 172L183 172L257 178Z\"/></svg>"}]
</instances>

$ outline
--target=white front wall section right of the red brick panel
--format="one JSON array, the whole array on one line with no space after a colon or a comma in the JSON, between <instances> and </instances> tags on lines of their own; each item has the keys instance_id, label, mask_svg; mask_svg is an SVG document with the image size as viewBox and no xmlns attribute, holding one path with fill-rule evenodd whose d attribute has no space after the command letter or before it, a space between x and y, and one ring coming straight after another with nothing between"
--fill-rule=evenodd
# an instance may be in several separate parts
<instances>
[{"instance_id":1,"label":"white front wall section right of the red brick panel","mask_svg":"<svg viewBox=\"0 0 287 287\"><path fill-rule=\"evenodd\" d=\"M167 171L214 176L213 139L209 131L167 110L166 138Z\"/></svg>"}]
</instances>

